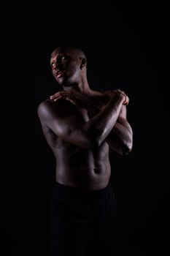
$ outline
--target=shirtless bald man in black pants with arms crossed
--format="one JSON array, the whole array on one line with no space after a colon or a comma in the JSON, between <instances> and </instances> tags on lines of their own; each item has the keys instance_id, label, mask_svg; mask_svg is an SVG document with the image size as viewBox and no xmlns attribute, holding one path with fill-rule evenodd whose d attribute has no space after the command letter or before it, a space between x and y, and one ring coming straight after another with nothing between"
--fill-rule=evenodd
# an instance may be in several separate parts
<instances>
[{"instance_id":1,"label":"shirtless bald man in black pants with arms crossed","mask_svg":"<svg viewBox=\"0 0 170 256\"><path fill-rule=\"evenodd\" d=\"M50 66L61 91L42 101L37 113L56 159L51 255L106 255L115 246L117 222L109 148L122 156L131 152L129 99L120 89L90 89L81 49L55 48Z\"/></svg>"}]
</instances>

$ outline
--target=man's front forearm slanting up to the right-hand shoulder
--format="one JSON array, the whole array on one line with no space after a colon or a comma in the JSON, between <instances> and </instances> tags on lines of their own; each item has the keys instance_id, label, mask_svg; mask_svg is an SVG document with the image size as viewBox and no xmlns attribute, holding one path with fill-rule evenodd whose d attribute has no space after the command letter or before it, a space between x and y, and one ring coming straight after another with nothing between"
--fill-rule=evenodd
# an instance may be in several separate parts
<instances>
[{"instance_id":1,"label":"man's front forearm slanting up to the right-hand shoulder","mask_svg":"<svg viewBox=\"0 0 170 256\"><path fill-rule=\"evenodd\" d=\"M100 145L115 127L123 102L123 95L117 94L116 97L110 99L104 110L85 123L85 132L93 136L97 145Z\"/></svg>"}]
</instances>

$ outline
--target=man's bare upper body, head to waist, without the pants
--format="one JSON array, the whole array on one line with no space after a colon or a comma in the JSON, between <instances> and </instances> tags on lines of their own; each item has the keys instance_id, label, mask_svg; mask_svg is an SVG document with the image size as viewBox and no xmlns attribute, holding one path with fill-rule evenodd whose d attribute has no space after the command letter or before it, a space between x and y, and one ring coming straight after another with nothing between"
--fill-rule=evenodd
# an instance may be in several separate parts
<instances>
[{"instance_id":1,"label":"man's bare upper body, head to waist, without the pants","mask_svg":"<svg viewBox=\"0 0 170 256\"><path fill-rule=\"evenodd\" d=\"M133 134L126 118L128 96L120 89L90 89L86 64L81 50L56 48L50 65L62 90L41 102L37 113L55 155L56 181L93 190L109 182L109 148L129 154Z\"/></svg>"}]
</instances>

